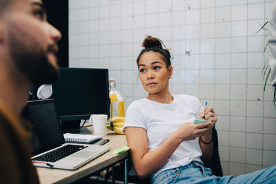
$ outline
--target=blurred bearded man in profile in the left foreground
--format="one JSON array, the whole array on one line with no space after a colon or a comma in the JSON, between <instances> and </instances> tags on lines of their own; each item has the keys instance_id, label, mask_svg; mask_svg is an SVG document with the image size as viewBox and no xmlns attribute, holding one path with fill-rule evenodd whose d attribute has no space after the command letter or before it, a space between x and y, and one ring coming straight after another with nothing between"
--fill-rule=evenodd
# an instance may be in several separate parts
<instances>
[{"instance_id":1,"label":"blurred bearded man in profile in the left foreground","mask_svg":"<svg viewBox=\"0 0 276 184\"><path fill-rule=\"evenodd\" d=\"M61 33L46 18L41 0L0 0L0 183L39 183L19 114L33 85L59 75Z\"/></svg>"}]
</instances>

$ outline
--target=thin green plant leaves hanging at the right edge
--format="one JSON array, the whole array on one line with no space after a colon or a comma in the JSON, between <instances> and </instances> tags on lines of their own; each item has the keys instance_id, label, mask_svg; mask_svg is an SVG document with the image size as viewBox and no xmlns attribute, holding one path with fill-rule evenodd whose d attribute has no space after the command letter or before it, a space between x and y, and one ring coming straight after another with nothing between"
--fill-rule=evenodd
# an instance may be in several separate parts
<instances>
[{"instance_id":1,"label":"thin green plant leaves hanging at the right edge","mask_svg":"<svg viewBox=\"0 0 276 184\"><path fill-rule=\"evenodd\" d=\"M261 28L259 28L259 30L257 31L260 32L261 30L266 30L266 25L268 24L268 21L266 21ZM266 48L268 46L268 43L266 43L266 46L264 47L264 53L266 52ZM266 61L266 63L264 63L264 67L262 69L262 74L263 74L263 79L264 79L264 92L266 91L266 83L268 82L269 76L270 76L270 72L271 72L271 68L269 65L269 61ZM275 105L276 103L276 88L271 86L273 88L273 103Z\"/></svg>"}]
</instances>

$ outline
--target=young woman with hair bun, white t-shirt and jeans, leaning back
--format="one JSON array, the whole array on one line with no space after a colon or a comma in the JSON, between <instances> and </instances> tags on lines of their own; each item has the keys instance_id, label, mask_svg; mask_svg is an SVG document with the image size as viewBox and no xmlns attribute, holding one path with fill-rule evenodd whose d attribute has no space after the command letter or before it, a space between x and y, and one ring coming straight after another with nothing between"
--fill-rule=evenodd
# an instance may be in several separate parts
<instances>
[{"instance_id":1,"label":"young woman with hair bun, white t-shirt and jeans, leaning back","mask_svg":"<svg viewBox=\"0 0 276 184\"><path fill-rule=\"evenodd\" d=\"M266 178L276 182L275 167L235 178L212 176L202 161L213 153L213 108L203 107L195 96L170 94L170 52L150 36L142 46L137 65L148 96L131 103L124 126L137 176L150 176L152 183L250 183ZM207 123L192 123L203 117Z\"/></svg>"}]
</instances>

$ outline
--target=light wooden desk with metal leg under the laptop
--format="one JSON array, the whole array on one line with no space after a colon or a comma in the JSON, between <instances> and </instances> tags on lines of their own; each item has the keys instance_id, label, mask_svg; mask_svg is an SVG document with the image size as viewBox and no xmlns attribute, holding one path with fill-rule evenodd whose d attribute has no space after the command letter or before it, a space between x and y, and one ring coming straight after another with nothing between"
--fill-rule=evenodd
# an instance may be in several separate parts
<instances>
[{"instance_id":1,"label":"light wooden desk with metal leg under the laptop","mask_svg":"<svg viewBox=\"0 0 276 184\"><path fill-rule=\"evenodd\" d=\"M97 157L97 159L90 161L86 165L83 165L78 170L70 171L37 167L37 174L39 175L40 183L72 183L74 181L78 181L81 178L92 176L92 173L124 160L126 170L126 161L130 155L129 152L124 152L122 154L112 154L113 150L116 150L123 145L127 145L126 136L119 135L115 132L107 130L107 134L105 137L103 137L103 139L110 139L110 142L106 143L106 145L110 146L110 151L102 154L101 156ZM124 177L125 183L127 183L126 171Z\"/></svg>"}]
</instances>

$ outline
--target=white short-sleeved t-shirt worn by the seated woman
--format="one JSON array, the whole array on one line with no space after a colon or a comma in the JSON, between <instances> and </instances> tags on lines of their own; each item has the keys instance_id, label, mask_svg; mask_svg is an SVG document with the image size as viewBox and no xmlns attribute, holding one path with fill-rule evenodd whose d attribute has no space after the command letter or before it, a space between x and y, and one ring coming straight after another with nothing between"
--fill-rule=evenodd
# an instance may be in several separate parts
<instances>
[{"instance_id":1,"label":"white short-sleeved t-shirt worn by the seated woman","mask_svg":"<svg viewBox=\"0 0 276 184\"><path fill-rule=\"evenodd\" d=\"M172 103L158 103L148 99L134 101L126 111L125 127L142 127L148 135L148 152L161 143L186 122L193 122L204 107L195 96L173 95ZM139 139L139 138L137 138ZM200 161L202 155L198 139L183 141L157 172Z\"/></svg>"}]
</instances>

